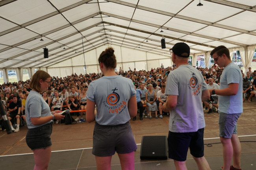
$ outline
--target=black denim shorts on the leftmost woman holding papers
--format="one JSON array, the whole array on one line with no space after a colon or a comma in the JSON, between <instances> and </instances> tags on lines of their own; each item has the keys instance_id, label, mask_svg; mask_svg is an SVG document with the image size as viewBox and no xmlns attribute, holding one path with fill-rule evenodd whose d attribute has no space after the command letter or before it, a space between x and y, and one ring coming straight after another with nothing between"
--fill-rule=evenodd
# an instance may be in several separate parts
<instances>
[{"instance_id":1,"label":"black denim shorts on the leftmost woman holding papers","mask_svg":"<svg viewBox=\"0 0 256 170\"><path fill-rule=\"evenodd\" d=\"M47 148L52 146L50 135L52 134L52 123L28 129L26 143L31 150Z\"/></svg>"}]
</instances>

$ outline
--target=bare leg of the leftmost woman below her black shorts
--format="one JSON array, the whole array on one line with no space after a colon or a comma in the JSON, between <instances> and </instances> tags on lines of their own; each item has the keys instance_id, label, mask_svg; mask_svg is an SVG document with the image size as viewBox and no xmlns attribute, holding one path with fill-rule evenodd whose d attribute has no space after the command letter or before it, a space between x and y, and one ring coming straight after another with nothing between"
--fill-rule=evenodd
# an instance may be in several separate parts
<instances>
[{"instance_id":1,"label":"bare leg of the leftmost woman below her black shorts","mask_svg":"<svg viewBox=\"0 0 256 170\"><path fill-rule=\"evenodd\" d=\"M52 146L45 149L33 150L35 160L34 170L47 170L51 158L51 150Z\"/></svg>"}]
</instances>

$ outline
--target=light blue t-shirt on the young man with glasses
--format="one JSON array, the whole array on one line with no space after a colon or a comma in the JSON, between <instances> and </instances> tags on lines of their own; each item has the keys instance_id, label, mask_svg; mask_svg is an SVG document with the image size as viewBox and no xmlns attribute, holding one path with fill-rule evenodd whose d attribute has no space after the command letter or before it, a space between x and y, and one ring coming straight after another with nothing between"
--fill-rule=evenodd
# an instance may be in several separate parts
<instances>
[{"instance_id":1,"label":"light blue t-shirt on the young man with glasses","mask_svg":"<svg viewBox=\"0 0 256 170\"><path fill-rule=\"evenodd\" d=\"M228 64L221 74L220 89L228 88L230 83L239 83L236 95L221 96L219 95L220 112L226 114L242 113L243 112L243 76L240 68L231 62Z\"/></svg>"}]
</instances>

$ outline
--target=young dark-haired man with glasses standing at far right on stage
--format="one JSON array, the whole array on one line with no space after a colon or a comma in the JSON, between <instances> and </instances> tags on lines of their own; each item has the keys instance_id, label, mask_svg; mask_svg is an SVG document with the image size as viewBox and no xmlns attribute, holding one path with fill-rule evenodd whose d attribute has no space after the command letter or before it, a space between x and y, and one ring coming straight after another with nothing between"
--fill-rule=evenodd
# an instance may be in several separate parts
<instances>
[{"instance_id":1,"label":"young dark-haired man with glasses standing at far right on stage","mask_svg":"<svg viewBox=\"0 0 256 170\"><path fill-rule=\"evenodd\" d=\"M219 95L219 136L223 145L223 170L241 170L241 144L237 136L237 119L243 112L243 76L230 58L225 46L218 46L210 53L214 63L223 68L220 89L210 89ZM235 121L233 120L235 118ZM233 165L231 165L233 156ZM231 165L231 166L230 166Z\"/></svg>"}]
</instances>

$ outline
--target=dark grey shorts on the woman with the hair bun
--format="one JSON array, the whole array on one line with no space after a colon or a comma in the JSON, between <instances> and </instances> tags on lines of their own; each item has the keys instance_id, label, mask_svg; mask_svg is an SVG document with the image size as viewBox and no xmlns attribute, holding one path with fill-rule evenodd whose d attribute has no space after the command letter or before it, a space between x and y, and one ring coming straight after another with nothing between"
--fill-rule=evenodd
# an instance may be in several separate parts
<instances>
[{"instance_id":1,"label":"dark grey shorts on the woman with the hair bun","mask_svg":"<svg viewBox=\"0 0 256 170\"><path fill-rule=\"evenodd\" d=\"M93 132L93 151L95 156L105 157L115 154L134 152L137 145L130 126L130 122L119 125L100 125L95 122Z\"/></svg>"}]
</instances>

